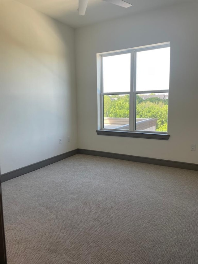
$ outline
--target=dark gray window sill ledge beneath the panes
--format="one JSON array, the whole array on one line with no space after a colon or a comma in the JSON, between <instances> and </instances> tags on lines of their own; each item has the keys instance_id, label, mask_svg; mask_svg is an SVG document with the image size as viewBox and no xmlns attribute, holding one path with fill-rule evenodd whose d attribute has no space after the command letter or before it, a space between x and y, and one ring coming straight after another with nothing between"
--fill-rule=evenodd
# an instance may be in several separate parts
<instances>
[{"instance_id":1,"label":"dark gray window sill ledge beneath the panes","mask_svg":"<svg viewBox=\"0 0 198 264\"><path fill-rule=\"evenodd\" d=\"M98 135L101 136L123 136L123 137L136 137L136 138L150 138L168 140L170 135L163 133L152 132L129 132L129 131L113 131L113 130L96 130Z\"/></svg>"}]
</instances>

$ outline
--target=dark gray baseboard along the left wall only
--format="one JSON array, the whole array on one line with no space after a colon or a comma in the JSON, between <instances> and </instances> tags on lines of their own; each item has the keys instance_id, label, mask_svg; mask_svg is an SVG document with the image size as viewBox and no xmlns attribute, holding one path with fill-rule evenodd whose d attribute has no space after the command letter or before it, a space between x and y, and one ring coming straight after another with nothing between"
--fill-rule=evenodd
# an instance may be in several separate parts
<instances>
[{"instance_id":1,"label":"dark gray baseboard along the left wall only","mask_svg":"<svg viewBox=\"0 0 198 264\"><path fill-rule=\"evenodd\" d=\"M17 169L15 171L10 171L10 172L4 173L4 174L1 175L1 181L4 182L4 181L7 181L7 180L11 180L11 179L16 178L18 176L24 175L24 174L26 174L28 172L35 171L37 169L40 169L42 167L45 167L47 165L50 165L50 164L55 163L57 161L60 161L62 159L71 157L71 156L73 156L75 154L78 154L78 149L74 149L74 150L71 150L69 152L60 154L58 156L42 160L40 162L28 165L26 167Z\"/></svg>"}]
</instances>

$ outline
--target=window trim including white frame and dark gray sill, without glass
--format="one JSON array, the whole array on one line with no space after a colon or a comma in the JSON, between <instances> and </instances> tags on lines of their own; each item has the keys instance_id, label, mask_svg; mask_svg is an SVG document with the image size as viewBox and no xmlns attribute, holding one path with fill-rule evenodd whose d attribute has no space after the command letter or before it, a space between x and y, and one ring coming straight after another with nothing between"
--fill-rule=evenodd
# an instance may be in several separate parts
<instances>
[{"instance_id":1,"label":"window trim including white frame and dark gray sill, without glass","mask_svg":"<svg viewBox=\"0 0 198 264\"><path fill-rule=\"evenodd\" d=\"M139 93L169 93L169 89L166 90L150 90L150 91L136 91L136 54L139 51L144 50L155 50L160 48L170 47L170 42L148 45L143 47L136 47L126 50L118 50L113 52L105 52L97 54L97 75L99 73L100 76L97 76L97 87L98 87L98 99L100 100L100 106L98 105L98 118L100 117L100 121L98 120L98 135L109 135L109 136L125 136L125 137L138 137L138 138L155 138L168 140L170 135L168 132L158 132L158 131L140 131L136 130L136 94ZM130 91L128 92L103 92L103 58L114 55L121 54L131 54L131 84ZM98 69L98 67L100 67ZM112 94L129 94L129 130L119 130L119 129L108 129L104 128L104 104L103 104L103 96L104 95L112 95ZM169 108L168 108L169 109ZM166 138L166 139L165 139Z\"/></svg>"}]
</instances>

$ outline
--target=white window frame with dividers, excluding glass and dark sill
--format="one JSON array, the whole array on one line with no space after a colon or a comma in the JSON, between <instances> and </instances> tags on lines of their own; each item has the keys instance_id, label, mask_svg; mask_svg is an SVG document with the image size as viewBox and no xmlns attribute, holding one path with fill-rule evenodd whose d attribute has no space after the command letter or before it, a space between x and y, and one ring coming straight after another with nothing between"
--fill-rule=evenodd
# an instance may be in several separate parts
<instances>
[{"instance_id":1,"label":"white window frame with dividers, excluding glass and dark sill","mask_svg":"<svg viewBox=\"0 0 198 264\"><path fill-rule=\"evenodd\" d=\"M155 45L148 45L144 47L137 47L137 48L131 48L127 50L120 50L115 52L108 52L108 53L100 53L97 54L99 58L98 67L100 67L100 70L97 70L97 75L100 74L100 78L98 78L98 86L100 86L99 90L99 101L100 106L98 107L98 117L100 117L100 120L98 120L98 129L105 130L105 131L119 131L119 132L146 132L146 133L156 133L156 134L168 134L167 132L158 132L158 131L142 131L142 130L136 130L136 94L140 93L169 93L169 89L166 90L149 90L149 91L136 91L136 54L139 51L144 50L154 50L154 49L160 49L160 48L166 48L170 47L170 42L166 43L160 43ZM103 58L113 55L120 55L120 54L131 54L131 85L130 85L130 91L129 92L110 92L110 93L104 93L103 92ZM97 68L98 68L97 67ZM169 87L170 88L170 87ZM104 107L103 107L103 96L104 95L114 95L114 94L129 94L129 130L124 129L108 129L104 128ZM168 107L169 109L169 107Z\"/></svg>"}]
</instances>

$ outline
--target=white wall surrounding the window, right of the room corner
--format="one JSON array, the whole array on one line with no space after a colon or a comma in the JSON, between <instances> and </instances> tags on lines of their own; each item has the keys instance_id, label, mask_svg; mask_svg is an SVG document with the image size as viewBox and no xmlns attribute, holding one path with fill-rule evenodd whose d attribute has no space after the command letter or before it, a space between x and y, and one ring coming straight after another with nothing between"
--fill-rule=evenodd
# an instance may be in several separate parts
<instances>
[{"instance_id":1,"label":"white wall surrounding the window, right of the room corner","mask_svg":"<svg viewBox=\"0 0 198 264\"><path fill-rule=\"evenodd\" d=\"M78 147L198 163L198 8L182 4L76 30ZM168 141L97 136L96 54L170 41ZM191 151L190 145L197 150Z\"/></svg>"}]
</instances>

